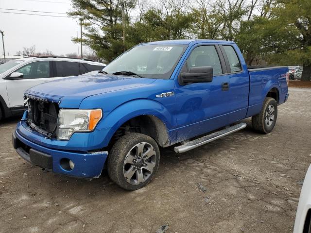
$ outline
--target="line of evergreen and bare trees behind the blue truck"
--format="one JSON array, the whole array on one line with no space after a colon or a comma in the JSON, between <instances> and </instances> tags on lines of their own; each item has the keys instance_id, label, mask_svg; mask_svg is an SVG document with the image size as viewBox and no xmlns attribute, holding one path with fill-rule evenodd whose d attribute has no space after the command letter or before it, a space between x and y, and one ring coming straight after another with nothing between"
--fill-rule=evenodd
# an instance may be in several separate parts
<instances>
[{"instance_id":1,"label":"line of evergreen and bare trees behind the blue truck","mask_svg":"<svg viewBox=\"0 0 311 233\"><path fill-rule=\"evenodd\" d=\"M302 65L311 77L311 0L71 0L83 38L109 63L144 42L235 41L247 65Z\"/></svg>"}]
</instances>

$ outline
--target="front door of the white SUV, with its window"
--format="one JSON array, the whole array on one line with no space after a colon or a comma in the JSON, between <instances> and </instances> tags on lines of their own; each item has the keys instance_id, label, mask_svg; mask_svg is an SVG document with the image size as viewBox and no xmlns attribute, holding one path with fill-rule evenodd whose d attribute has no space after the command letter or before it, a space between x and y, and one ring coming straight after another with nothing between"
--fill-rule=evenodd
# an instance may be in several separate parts
<instances>
[{"instance_id":1,"label":"front door of the white SUV, with its window","mask_svg":"<svg viewBox=\"0 0 311 233\"><path fill-rule=\"evenodd\" d=\"M24 74L22 79L6 79L6 89L11 108L24 106L24 93L27 89L53 80L51 65L50 61L28 63L14 71Z\"/></svg>"}]
</instances>

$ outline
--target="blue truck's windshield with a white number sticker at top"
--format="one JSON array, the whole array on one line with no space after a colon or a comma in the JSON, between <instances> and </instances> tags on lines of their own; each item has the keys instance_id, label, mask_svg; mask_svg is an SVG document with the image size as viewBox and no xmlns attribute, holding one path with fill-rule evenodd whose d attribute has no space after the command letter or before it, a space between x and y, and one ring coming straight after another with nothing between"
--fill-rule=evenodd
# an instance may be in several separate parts
<instances>
[{"instance_id":1,"label":"blue truck's windshield with a white number sticker at top","mask_svg":"<svg viewBox=\"0 0 311 233\"><path fill-rule=\"evenodd\" d=\"M169 79L187 45L142 45L123 53L103 70L130 71L143 78Z\"/></svg>"}]
</instances>

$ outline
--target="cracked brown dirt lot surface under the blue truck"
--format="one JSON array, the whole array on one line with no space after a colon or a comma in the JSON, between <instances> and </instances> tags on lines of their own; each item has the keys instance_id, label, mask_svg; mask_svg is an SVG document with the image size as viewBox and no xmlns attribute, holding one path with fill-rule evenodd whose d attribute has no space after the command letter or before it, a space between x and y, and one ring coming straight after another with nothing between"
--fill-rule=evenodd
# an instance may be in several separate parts
<instances>
[{"instance_id":1,"label":"cracked brown dirt lot surface under the blue truck","mask_svg":"<svg viewBox=\"0 0 311 233\"><path fill-rule=\"evenodd\" d=\"M106 175L77 180L26 163L11 145L17 121L0 123L1 233L293 231L311 162L311 89L290 89L273 133L254 133L246 119L243 131L198 149L161 150L155 179L134 192Z\"/></svg>"}]
</instances>

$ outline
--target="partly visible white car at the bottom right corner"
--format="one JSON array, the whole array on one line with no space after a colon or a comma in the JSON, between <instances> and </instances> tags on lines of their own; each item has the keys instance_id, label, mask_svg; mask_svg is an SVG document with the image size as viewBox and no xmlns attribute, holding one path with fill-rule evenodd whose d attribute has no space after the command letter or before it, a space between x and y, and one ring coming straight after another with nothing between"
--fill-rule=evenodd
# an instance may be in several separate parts
<instances>
[{"instance_id":1,"label":"partly visible white car at the bottom right corner","mask_svg":"<svg viewBox=\"0 0 311 233\"><path fill-rule=\"evenodd\" d=\"M311 165L301 189L294 233L311 233Z\"/></svg>"}]
</instances>

